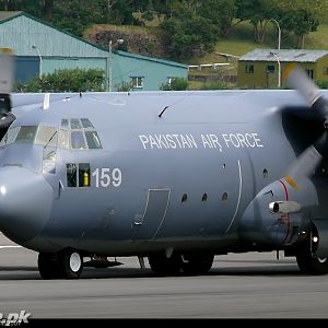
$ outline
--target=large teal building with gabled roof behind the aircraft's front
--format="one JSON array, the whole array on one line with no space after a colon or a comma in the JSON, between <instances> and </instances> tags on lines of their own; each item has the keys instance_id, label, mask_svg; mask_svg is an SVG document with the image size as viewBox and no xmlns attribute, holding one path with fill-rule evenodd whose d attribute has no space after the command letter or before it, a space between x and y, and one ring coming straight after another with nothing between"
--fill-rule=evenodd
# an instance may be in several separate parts
<instances>
[{"instance_id":1,"label":"large teal building with gabled roof behind the aircraft's front","mask_svg":"<svg viewBox=\"0 0 328 328\"><path fill-rule=\"evenodd\" d=\"M21 11L0 12L0 47L14 50L15 81L20 82L59 69L102 69L107 89L115 91L131 82L133 89L149 91L188 74L187 66L124 51L112 54Z\"/></svg>"}]
</instances>

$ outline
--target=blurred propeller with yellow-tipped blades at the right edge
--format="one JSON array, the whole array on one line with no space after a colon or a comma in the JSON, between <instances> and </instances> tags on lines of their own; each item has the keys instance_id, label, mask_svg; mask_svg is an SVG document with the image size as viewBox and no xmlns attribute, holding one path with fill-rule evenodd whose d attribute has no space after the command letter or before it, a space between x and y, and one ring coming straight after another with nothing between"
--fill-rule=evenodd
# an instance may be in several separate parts
<instances>
[{"instance_id":1,"label":"blurred propeller with yellow-tipped blades at the right edge","mask_svg":"<svg viewBox=\"0 0 328 328\"><path fill-rule=\"evenodd\" d=\"M319 165L324 155L328 153L328 102L300 67L290 65L284 71L284 75L289 85L298 90L312 109L317 113L324 128L324 133L292 163L288 174L284 175L285 180L297 189L297 181L309 176Z\"/></svg>"}]
</instances>

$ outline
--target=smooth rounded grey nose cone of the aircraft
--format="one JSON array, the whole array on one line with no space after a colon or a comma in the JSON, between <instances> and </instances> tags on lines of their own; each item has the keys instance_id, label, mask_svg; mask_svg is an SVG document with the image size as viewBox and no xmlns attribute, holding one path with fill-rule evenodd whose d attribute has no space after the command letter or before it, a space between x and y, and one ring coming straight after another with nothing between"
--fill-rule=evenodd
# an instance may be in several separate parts
<instances>
[{"instance_id":1,"label":"smooth rounded grey nose cone of the aircraft","mask_svg":"<svg viewBox=\"0 0 328 328\"><path fill-rule=\"evenodd\" d=\"M52 188L42 175L19 167L0 169L0 231L17 244L38 235L49 218Z\"/></svg>"}]
</instances>

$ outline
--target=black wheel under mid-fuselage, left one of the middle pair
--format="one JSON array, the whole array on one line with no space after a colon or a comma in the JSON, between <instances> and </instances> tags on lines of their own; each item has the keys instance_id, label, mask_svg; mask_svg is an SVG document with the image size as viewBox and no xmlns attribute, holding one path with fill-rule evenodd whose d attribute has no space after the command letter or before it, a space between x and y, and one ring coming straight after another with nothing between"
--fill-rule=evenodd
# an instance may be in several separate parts
<instances>
[{"instance_id":1,"label":"black wheel under mid-fuselage, left one of the middle pair","mask_svg":"<svg viewBox=\"0 0 328 328\"><path fill-rule=\"evenodd\" d=\"M180 255L173 254L167 258L165 254L155 254L148 257L152 271L159 276L175 276L179 273L183 265Z\"/></svg>"}]
</instances>

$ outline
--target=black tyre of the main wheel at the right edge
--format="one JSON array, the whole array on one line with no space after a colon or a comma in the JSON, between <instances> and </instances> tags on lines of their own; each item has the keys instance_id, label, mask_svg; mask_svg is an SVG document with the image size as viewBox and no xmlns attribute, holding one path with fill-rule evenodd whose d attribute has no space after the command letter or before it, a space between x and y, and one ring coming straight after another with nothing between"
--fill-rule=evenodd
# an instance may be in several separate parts
<instances>
[{"instance_id":1,"label":"black tyre of the main wheel at the right edge","mask_svg":"<svg viewBox=\"0 0 328 328\"><path fill-rule=\"evenodd\" d=\"M306 238L296 251L296 261L302 273L327 274L328 258L315 257L311 251L311 239Z\"/></svg>"}]
</instances>

